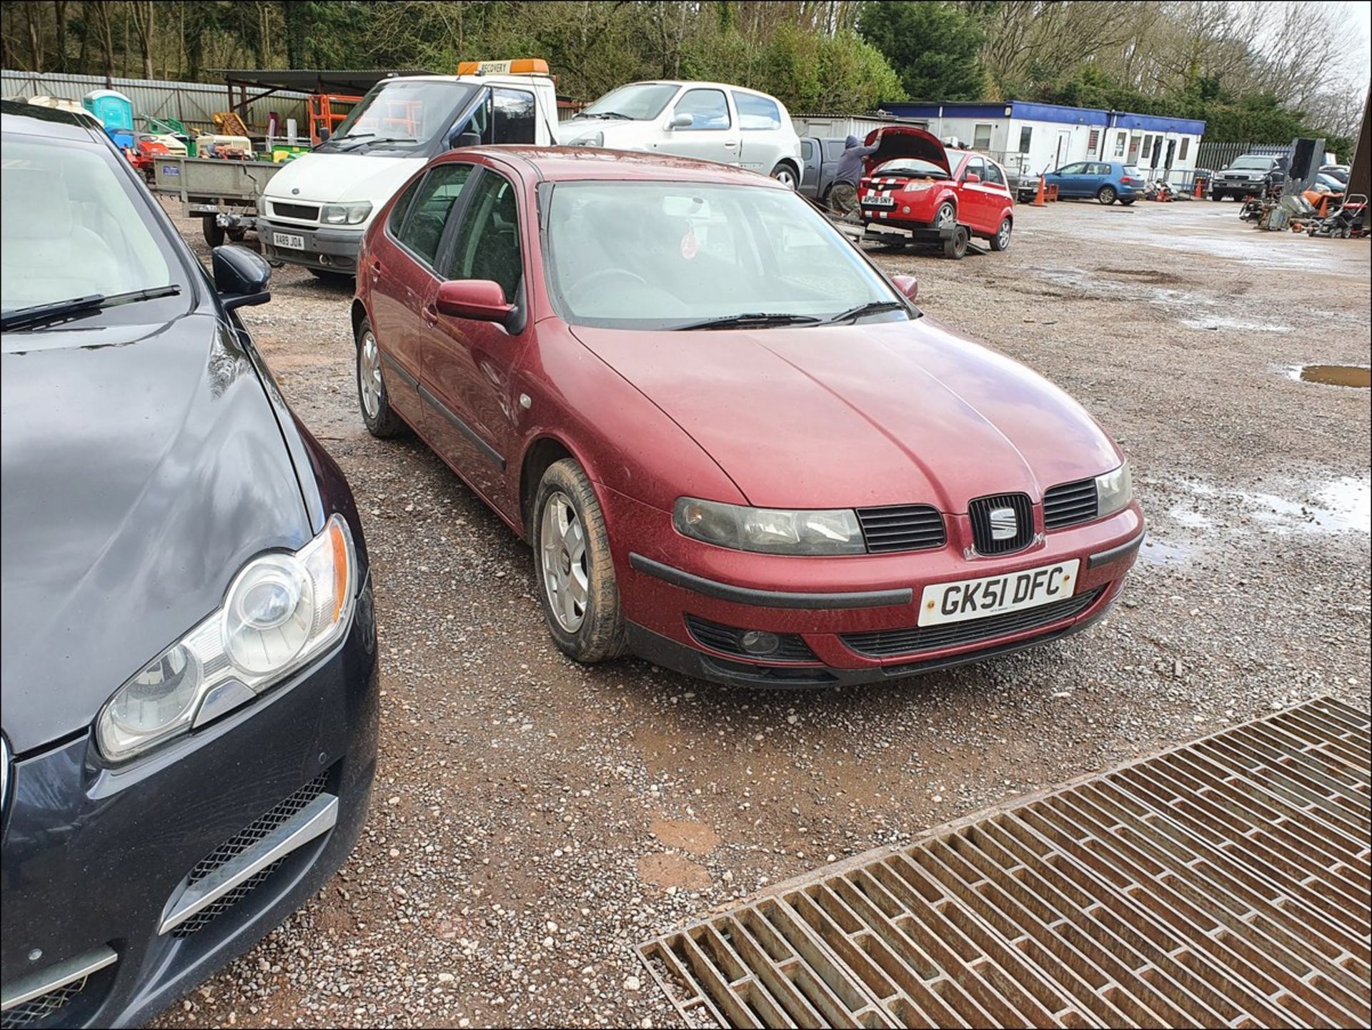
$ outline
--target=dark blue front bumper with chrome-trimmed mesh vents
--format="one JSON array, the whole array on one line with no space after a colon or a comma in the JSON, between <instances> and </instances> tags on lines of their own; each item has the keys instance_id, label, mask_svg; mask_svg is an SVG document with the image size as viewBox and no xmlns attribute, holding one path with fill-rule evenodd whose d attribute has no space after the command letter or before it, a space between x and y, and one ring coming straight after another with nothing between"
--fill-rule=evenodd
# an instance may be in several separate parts
<instances>
[{"instance_id":1,"label":"dark blue front bumper with chrome-trimmed mesh vents","mask_svg":"<svg viewBox=\"0 0 1372 1030\"><path fill-rule=\"evenodd\" d=\"M343 643L218 723L117 768L89 734L19 757L0 850L7 1030L140 1025L299 908L361 833L376 727L368 577ZM206 901L206 870L222 887L235 868L252 876ZM12 1004L81 963L82 979Z\"/></svg>"}]
</instances>

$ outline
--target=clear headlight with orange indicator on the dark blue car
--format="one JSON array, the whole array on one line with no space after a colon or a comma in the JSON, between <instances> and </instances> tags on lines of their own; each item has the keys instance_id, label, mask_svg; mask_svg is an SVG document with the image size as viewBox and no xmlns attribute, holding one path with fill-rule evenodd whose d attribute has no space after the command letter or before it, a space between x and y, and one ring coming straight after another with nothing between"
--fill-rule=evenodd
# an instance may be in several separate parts
<instances>
[{"instance_id":1,"label":"clear headlight with orange indicator on the dark blue car","mask_svg":"<svg viewBox=\"0 0 1372 1030\"><path fill-rule=\"evenodd\" d=\"M250 561L209 619L100 709L100 753L132 758L251 701L328 649L353 614L355 569L353 532L338 514L300 550Z\"/></svg>"}]
</instances>

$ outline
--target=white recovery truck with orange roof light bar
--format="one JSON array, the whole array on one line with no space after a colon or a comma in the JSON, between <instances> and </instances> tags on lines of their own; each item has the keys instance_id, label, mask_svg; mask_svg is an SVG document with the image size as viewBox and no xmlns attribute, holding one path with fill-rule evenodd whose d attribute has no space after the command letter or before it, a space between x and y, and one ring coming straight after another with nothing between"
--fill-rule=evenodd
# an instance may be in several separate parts
<instances>
[{"instance_id":1,"label":"white recovery truck with orange roof light bar","mask_svg":"<svg viewBox=\"0 0 1372 1030\"><path fill-rule=\"evenodd\" d=\"M338 130L266 184L258 237L270 261L353 276L372 215L424 162L453 147L547 147L557 93L542 60L472 62L457 75L377 82Z\"/></svg>"}]
</instances>

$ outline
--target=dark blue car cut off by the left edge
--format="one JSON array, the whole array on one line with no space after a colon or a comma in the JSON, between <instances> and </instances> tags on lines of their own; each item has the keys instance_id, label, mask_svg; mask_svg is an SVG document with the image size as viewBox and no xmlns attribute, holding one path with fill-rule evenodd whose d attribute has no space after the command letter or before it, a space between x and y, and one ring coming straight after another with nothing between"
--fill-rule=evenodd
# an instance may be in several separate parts
<instances>
[{"instance_id":1,"label":"dark blue car cut off by the left edge","mask_svg":"<svg viewBox=\"0 0 1372 1030\"><path fill-rule=\"evenodd\" d=\"M211 280L85 117L0 137L0 1027L137 1026L362 828L366 546L239 321L266 262Z\"/></svg>"}]
</instances>

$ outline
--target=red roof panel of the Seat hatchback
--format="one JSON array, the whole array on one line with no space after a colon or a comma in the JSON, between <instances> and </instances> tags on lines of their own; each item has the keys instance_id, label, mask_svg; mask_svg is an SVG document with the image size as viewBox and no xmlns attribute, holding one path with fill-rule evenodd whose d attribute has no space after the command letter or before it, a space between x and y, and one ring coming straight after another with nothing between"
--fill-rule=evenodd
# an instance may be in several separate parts
<instances>
[{"instance_id":1,"label":"red roof panel of the Seat hatchback","mask_svg":"<svg viewBox=\"0 0 1372 1030\"><path fill-rule=\"evenodd\" d=\"M713 160L679 158L668 154L641 154L602 147L466 147L451 151L446 159L482 156L516 165L534 181L567 182L575 180L639 180L643 182L719 182L722 185L790 189L759 171L720 165Z\"/></svg>"}]
</instances>

